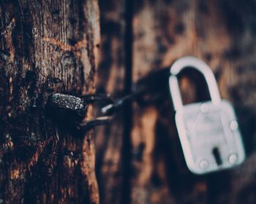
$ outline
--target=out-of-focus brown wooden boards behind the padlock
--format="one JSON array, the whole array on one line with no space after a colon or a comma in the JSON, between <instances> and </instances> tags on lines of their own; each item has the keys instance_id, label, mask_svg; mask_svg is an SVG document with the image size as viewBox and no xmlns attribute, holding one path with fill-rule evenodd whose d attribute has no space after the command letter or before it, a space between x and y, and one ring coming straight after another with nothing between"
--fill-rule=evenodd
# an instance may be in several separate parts
<instances>
[{"instance_id":1,"label":"out-of-focus brown wooden boards behind the padlock","mask_svg":"<svg viewBox=\"0 0 256 204\"><path fill-rule=\"evenodd\" d=\"M211 67L222 98L235 106L247 155L237 168L190 173L167 87L152 80L164 93L158 101L127 104L97 130L101 203L256 203L256 1L99 0L99 9L99 93L121 97L133 82L193 55ZM195 78L180 80L184 103L207 95Z\"/></svg>"}]
</instances>

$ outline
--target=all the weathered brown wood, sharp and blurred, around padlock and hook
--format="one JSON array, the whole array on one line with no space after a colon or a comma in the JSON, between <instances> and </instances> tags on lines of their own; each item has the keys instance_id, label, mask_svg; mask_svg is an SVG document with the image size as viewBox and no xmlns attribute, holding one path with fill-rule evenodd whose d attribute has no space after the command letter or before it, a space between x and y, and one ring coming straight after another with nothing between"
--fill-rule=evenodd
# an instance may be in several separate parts
<instances>
[{"instance_id":1,"label":"all the weathered brown wood, sharp and blurred, around padlock and hook","mask_svg":"<svg viewBox=\"0 0 256 204\"><path fill-rule=\"evenodd\" d=\"M0 203L255 203L255 1L100 0L101 44L97 1L0 3ZM116 98L184 55L205 60L236 108L246 162L189 173L168 95L97 129L96 158L91 132L56 128L47 96L94 92L99 47L97 91ZM181 90L197 99L188 77Z\"/></svg>"}]
</instances>

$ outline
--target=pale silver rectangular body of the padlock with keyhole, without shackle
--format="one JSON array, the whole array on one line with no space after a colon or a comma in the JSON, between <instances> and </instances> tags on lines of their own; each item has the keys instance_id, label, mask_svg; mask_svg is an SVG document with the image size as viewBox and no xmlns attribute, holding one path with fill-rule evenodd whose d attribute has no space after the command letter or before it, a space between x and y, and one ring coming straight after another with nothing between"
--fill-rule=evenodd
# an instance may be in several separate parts
<instances>
[{"instance_id":1,"label":"pale silver rectangular body of the padlock with keyhole, without shackle","mask_svg":"<svg viewBox=\"0 0 256 204\"><path fill-rule=\"evenodd\" d=\"M244 161L244 144L228 101L185 105L176 111L176 125L187 166L193 173L233 168Z\"/></svg>"}]
</instances>

